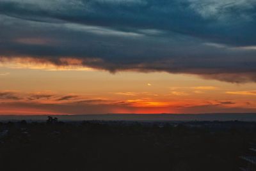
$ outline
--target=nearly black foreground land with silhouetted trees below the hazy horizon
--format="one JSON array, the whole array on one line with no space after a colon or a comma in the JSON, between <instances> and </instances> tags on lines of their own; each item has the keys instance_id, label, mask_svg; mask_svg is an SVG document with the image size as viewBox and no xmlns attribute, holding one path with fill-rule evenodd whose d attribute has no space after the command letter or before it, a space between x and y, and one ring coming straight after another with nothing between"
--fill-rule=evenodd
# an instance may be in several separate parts
<instances>
[{"instance_id":1,"label":"nearly black foreground land with silhouetted trees below the hazy horizon","mask_svg":"<svg viewBox=\"0 0 256 171\"><path fill-rule=\"evenodd\" d=\"M46 119L45 119L46 120ZM239 170L256 123L4 122L1 170Z\"/></svg>"}]
</instances>

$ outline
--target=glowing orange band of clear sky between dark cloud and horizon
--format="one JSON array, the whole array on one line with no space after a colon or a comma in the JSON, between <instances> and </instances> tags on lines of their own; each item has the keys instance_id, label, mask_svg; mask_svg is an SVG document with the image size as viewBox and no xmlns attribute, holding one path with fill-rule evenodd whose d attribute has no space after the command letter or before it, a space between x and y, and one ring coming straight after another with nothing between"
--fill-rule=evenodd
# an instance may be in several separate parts
<instances>
[{"instance_id":1,"label":"glowing orange band of clear sky between dark cloud and horizon","mask_svg":"<svg viewBox=\"0 0 256 171\"><path fill-rule=\"evenodd\" d=\"M56 65L0 57L0 114L256 112L255 83L156 72L112 74L86 68L81 59L59 60Z\"/></svg>"}]
</instances>

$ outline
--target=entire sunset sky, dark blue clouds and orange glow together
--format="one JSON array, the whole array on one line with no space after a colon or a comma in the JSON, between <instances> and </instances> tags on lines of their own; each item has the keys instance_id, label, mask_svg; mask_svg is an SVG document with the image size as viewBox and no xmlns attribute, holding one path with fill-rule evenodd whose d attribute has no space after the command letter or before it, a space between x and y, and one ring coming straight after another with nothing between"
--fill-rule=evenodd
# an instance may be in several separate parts
<instances>
[{"instance_id":1,"label":"entire sunset sky, dark blue clouds and orange glow together","mask_svg":"<svg viewBox=\"0 0 256 171\"><path fill-rule=\"evenodd\" d=\"M0 0L0 115L256 112L255 0Z\"/></svg>"}]
</instances>

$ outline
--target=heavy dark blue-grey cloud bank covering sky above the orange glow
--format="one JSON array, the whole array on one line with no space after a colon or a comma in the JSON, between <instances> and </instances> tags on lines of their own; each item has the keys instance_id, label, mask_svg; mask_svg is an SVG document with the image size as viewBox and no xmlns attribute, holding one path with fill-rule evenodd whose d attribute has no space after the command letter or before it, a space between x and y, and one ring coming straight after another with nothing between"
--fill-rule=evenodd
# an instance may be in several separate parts
<instances>
[{"instance_id":1,"label":"heavy dark blue-grey cloud bank covering sky above the orange glow","mask_svg":"<svg viewBox=\"0 0 256 171\"><path fill-rule=\"evenodd\" d=\"M253 0L2 0L0 56L256 82Z\"/></svg>"}]
</instances>

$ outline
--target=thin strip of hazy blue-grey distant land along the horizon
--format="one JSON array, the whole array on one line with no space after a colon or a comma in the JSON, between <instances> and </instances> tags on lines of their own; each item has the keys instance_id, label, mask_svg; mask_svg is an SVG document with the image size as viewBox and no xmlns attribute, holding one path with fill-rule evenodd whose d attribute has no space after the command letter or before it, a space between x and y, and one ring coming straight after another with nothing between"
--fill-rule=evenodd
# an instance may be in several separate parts
<instances>
[{"instance_id":1,"label":"thin strip of hazy blue-grey distant land along the horizon","mask_svg":"<svg viewBox=\"0 0 256 171\"><path fill-rule=\"evenodd\" d=\"M0 115L0 121L45 121L47 115ZM91 114L56 115L60 121L256 121L256 114Z\"/></svg>"}]
</instances>

